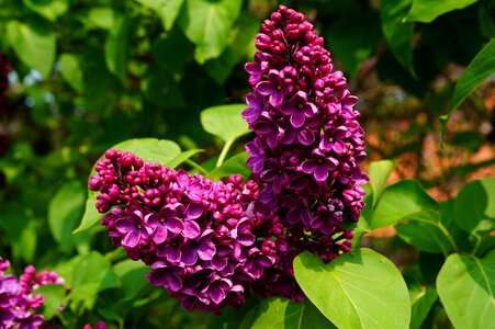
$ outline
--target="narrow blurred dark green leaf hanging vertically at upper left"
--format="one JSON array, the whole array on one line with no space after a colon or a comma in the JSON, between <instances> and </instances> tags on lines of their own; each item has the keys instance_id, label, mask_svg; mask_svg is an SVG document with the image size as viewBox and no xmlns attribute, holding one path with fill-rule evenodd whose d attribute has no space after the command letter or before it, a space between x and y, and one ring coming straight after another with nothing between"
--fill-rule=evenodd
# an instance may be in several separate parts
<instances>
[{"instance_id":1,"label":"narrow blurred dark green leaf hanging vertically at upper left","mask_svg":"<svg viewBox=\"0 0 495 329\"><path fill-rule=\"evenodd\" d=\"M130 27L131 20L127 16L116 15L105 42L106 66L123 83L127 73Z\"/></svg>"}]
</instances>

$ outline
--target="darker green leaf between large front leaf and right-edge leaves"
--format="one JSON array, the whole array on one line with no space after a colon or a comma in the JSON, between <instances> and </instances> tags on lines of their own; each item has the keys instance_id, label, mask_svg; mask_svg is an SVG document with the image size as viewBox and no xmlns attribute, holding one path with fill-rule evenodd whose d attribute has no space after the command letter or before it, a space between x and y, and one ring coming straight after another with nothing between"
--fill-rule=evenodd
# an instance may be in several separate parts
<instances>
[{"instance_id":1,"label":"darker green leaf between large front leaf and right-edge leaves","mask_svg":"<svg viewBox=\"0 0 495 329\"><path fill-rule=\"evenodd\" d=\"M396 226L397 235L421 251L442 252L447 256L450 251L457 250L457 245L440 218L438 211L407 214L404 223Z\"/></svg>"}]
</instances>

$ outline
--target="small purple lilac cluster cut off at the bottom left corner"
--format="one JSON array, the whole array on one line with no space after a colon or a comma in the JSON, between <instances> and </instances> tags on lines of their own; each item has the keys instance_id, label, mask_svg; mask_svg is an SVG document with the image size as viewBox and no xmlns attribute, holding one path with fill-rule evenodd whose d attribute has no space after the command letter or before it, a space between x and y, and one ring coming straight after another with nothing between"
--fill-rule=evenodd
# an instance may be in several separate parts
<instances>
[{"instance_id":1,"label":"small purple lilac cluster cut off at the bottom left corner","mask_svg":"<svg viewBox=\"0 0 495 329\"><path fill-rule=\"evenodd\" d=\"M64 284L64 279L48 271L36 275L35 268L29 265L18 280L12 274L4 274L9 268L9 261L0 257L0 328L40 328L44 318L35 310L43 306L44 299L33 292L45 284Z\"/></svg>"}]
</instances>

